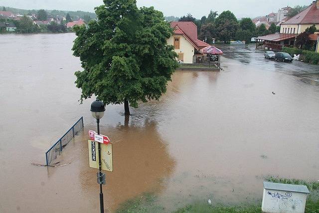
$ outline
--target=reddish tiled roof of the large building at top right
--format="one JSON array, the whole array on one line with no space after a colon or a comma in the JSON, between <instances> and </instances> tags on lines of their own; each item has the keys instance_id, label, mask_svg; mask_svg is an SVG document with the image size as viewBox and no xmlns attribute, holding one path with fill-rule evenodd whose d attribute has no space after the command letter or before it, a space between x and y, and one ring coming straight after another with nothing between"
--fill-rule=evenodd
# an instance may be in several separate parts
<instances>
[{"instance_id":1,"label":"reddish tiled roof of the large building at top right","mask_svg":"<svg viewBox=\"0 0 319 213\"><path fill-rule=\"evenodd\" d=\"M305 10L301 11L294 17L285 21L283 24L318 24L319 23L319 8L317 3L313 3Z\"/></svg>"}]
</instances>

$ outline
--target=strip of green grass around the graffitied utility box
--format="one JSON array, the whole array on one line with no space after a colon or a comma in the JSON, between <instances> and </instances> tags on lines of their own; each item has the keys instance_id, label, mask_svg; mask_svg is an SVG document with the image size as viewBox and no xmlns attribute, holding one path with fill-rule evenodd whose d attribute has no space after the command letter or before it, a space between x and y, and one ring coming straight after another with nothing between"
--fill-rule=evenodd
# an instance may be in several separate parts
<instances>
[{"instance_id":1,"label":"strip of green grass around the graffitied utility box","mask_svg":"<svg viewBox=\"0 0 319 213\"><path fill-rule=\"evenodd\" d=\"M268 177L266 181L282 184L306 185L311 194L307 199L306 213L319 213L319 182L306 182L295 179L282 179ZM137 199L124 203L117 213L161 213L169 212L165 207L157 203L157 197L154 194L143 194ZM238 205L208 205L205 201L189 204L176 210L174 213L261 213L261 202L255 204L238 204Z\"/></svg>"}]
</instances>

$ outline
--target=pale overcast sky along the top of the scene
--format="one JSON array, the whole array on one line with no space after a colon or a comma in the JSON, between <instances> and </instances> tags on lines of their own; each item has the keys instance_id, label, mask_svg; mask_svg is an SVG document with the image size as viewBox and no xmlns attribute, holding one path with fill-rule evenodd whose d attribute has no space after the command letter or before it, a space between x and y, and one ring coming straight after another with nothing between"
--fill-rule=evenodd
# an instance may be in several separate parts
<instances>
[{"instance_id":1,"label":"pale overcast sky along the top of the scene","mask_svg":"<svg viewBox=\"0 0 319 213\"><path fill-rule=\"evenodd\" d=\"M209 11L232 11L236 17L256 17L277 12L284 6L309 5L313 0L137 0L138 6L154 6L165 16L191 13L196 18ZM59 9L94 11L103 0L0 0L0 5L21 9Z\"/></svg>"}]
</instances>

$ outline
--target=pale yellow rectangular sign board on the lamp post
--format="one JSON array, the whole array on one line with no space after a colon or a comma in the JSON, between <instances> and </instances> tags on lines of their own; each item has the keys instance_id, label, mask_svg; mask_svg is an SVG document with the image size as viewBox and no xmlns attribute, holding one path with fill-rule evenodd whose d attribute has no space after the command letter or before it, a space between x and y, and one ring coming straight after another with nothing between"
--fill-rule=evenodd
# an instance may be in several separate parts
<instances>
[{"instance_id":1,"label":"pale yellow rectangular sign board on the lamp post","mask_svg":"<svg viewBox=\"0 0 319 213\"><path fill-rule=\"evenodd\" d=\"M89 146L89 166L94 169L99 169L99 143L96 141L88 141ZM101 145L101 161L102 170L113 172L113 153L112 144Z\"/></svg>"}]
</instances>

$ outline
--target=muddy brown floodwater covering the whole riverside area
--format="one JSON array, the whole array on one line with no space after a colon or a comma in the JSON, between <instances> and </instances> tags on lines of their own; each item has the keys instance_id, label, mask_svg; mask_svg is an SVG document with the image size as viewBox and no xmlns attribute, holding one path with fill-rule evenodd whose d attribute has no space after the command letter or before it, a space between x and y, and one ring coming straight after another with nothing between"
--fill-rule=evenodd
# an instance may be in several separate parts
<instances>
[{"instance_id":1,"label":"muddy brown floodwater covering the whole riverside area","mask_svg":"<svg viewBox=\"0 0 319 213\"><path fill-rule=\"evenodd\" d=\"M0 35L0 212L98 212L88 167L89 112L79 104L75 35ZM319 180L319 67L265 60L253 47L221 47L220 72L175 72L160 101L107 106L101 133L113 142L105 208L155 193L163 212L194 201L260 202L263 180ZM276 94L272 94L275 92ZM58 158L45 151L81 116Z\"/></svg>"}]
</instances>

